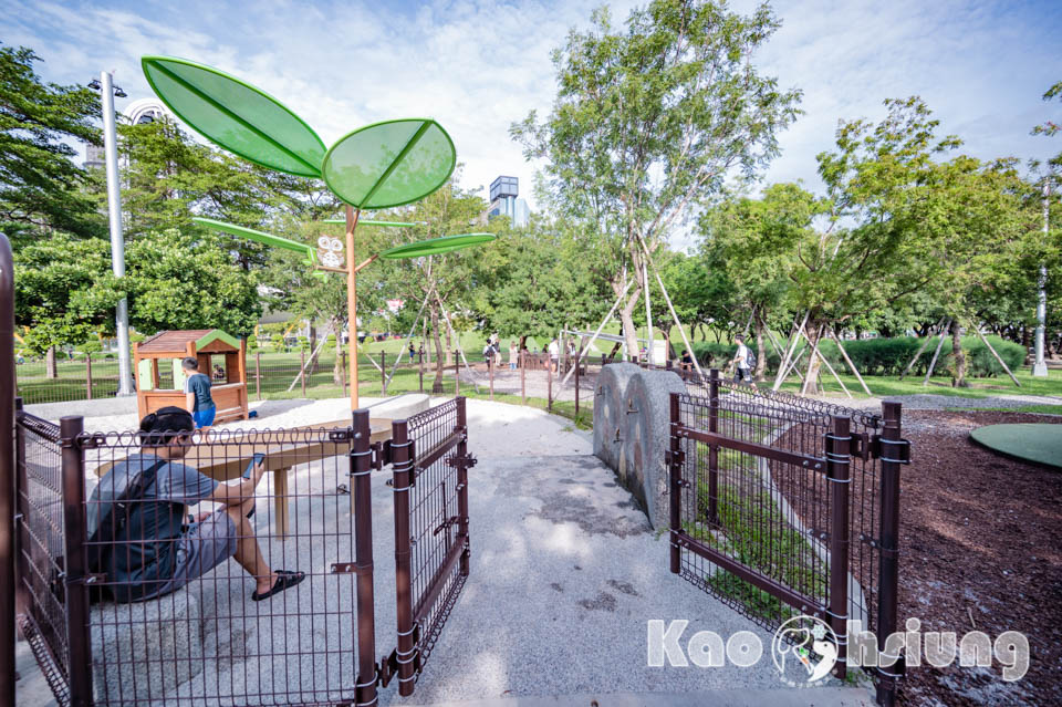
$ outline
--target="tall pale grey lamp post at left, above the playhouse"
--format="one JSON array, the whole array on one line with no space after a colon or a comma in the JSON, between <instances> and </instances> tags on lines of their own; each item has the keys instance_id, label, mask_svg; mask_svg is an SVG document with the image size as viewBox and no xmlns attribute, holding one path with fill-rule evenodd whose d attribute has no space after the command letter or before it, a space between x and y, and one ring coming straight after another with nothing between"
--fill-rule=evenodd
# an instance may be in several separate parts
<instances>
[{"instance_id":1,"label":"tall pale grey lamp post at left, above the playhouse","mask_svg":"<svg viewBox=\"0 0 1062 707\"><path fill-rule=\"evenodd\" d=\"M122 187L118 181L118 138L114 126L114 96L124 97L122 89L115 89L111 72L100 74L103 92L103 148L107 167L107 211L111 218L111 266L114 277L125 277L125 239L122 236ZM95 87L96 82L93 82ZM129 365L129 303L118 301L115 314L118 334L118 395L133 395L133 375Z\"/></svg>"}]
</instances>

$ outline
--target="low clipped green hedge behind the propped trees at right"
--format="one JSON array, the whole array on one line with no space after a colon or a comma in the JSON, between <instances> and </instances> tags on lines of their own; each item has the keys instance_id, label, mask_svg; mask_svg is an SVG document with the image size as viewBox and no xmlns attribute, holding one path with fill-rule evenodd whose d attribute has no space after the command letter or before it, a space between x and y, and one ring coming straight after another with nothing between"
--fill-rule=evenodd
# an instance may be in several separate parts
<instances>
[{"instance_id":1,"label":"low clipped green hedge behind the propped trees at right","mask_svg":"<svg viewBox=\"0 0 1062 707\"><path fill-rule=\"evenodd\" d=\"M1023 346L1004 341L999 336L989 336L988 340L991 342L996 352L1007 362L1011 371L1021 367L1025 360L1025 350ZM860 373L864 375L898 376L903 373L907 363L910 362L910 358L924 341L925 340L915 339L914 336L864 339L862 341L844 342L844 350L860 370ZM756 345L756 343L751 341L748 343L753 346ZM918 361L912 366L908 375L918 376L926 374L936 346L937 339L934 337L933 342L930 342L922 355L918 356ZM798 346L796 350L800 351L800 349L801 347ZM681 350L680 347L678 352L679 355L681 354ZM839 373L842 368L847 368L841 356L841 352L833 341L821 342L819 350L822 352L822 355L825 356L826 361L830 362L830 365ZM999 362L992 356L992 352L990 352L977 336L964 336L962 350L966 352L967 375L969 377L985 378L1003 374L1003 367L999 365ZM736 351L737 345L735 344L717 344L702 341L694 342L694 354L697 356L700 365L706 368L725 368L733 358ZM768 374L773 374L778 371L779 361L780 357L778 354L768 346ZM803 361L804 365L806 365L806 357ZM940 350L940 358L937 362L934 373L946 375L951 365L951 337L949 335L945 339L944 347Z\"/></svg>"}]
</instances>

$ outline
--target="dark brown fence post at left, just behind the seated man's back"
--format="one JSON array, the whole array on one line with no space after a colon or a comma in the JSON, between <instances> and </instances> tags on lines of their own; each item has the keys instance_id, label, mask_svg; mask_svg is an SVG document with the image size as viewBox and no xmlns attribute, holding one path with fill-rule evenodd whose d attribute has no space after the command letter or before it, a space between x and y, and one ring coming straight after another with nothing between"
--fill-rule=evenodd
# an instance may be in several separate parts
<instances>
[{"instance_id":1,"label":"dark brown fence post at left, just behind the seated man's back","mask_svg":"<svg viewBox=\"0 0 1062 707\"><path fill-rule=\"evenodd\" d=\"M70 655L70 705L92 705L92 640L88 623L88 558L85 549L85 465L77 435L82 417L59 420L62 445L63 539L66 557L66 646Z\"/></svg>"}]
</instances>

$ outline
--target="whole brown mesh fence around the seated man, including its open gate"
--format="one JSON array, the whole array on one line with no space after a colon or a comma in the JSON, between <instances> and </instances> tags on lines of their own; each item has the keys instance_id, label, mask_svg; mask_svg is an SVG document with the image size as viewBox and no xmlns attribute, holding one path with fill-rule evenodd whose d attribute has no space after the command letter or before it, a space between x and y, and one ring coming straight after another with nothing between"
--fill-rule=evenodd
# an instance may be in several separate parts
<instances>
[{"instance_id":1,"label":"whole brown mesh fence around the seated man, including its open gate","mask_svg":"<svg viewBox=\"0 0 1062 707\"><path fill-rule=\"evenodd\" d=\"M475 459L462 398L386 425L357 410L353 424L214 429L152 447L138 433L86 433L80 417L56 426L19 408L17 623L60 705L367 707L395 676L412 693L469 572ZM242 502L191 505L185 517L184 501L210 489L178 484L173 467L152 470L156 453L219 482L241 479L261 454L264 476ZM372 479L393 460L394 492ZM102 500L128 470L165 472L168 501ZM395 594L405 630L378 661L379 502L395 505L405 538ZM93 539L90 520L107 508L124 530ZM305 579L253 601L270 570Z\"/></svg>"}]
</instances>

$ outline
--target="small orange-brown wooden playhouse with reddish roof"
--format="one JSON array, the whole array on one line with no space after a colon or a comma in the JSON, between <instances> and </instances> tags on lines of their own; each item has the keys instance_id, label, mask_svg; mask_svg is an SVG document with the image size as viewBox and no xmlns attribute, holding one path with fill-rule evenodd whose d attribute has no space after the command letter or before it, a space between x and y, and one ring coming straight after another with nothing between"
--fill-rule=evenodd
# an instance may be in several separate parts
<instances>
[{"instance_id":1,"label":"small orange-brown wooden playhouse with reddish roof","mask_svg":"<svg viewBox=\"0 0 1062 707\"><path fill-rule=\"evenodd\" d=\"M215 374L215 356L225 365ZM210 394L218 406L216 423L247 419L247 342L220 329L159 332L133 345L136 403L143 418L148 413L176 405L185 407L185 372L181 361L199 361L199 373L210 376Z\"/></svg>"}]
</instances>

